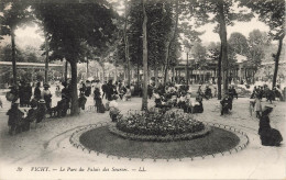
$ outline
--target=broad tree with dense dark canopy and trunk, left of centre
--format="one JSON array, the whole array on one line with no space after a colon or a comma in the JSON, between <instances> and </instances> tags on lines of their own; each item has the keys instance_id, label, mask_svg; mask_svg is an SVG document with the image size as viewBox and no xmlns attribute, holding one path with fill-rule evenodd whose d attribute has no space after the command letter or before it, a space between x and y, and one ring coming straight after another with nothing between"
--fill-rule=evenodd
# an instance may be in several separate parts
<instances>
[{"instance_id":1,"label":"broad tree with dense dark canopy and trunk, left of centre","mask_svg":"<svg viewBox=\"0 0 286 180\"><path fill-rule=\"evenodd\" d=\"M77 63L84 60L82 42L105 50L111 44L116 13L106 1L46 0L34 4L37 19L51 34L51 59L66 59L72 69L72 115L78 114ZM79 15L80 14L80 15Z\"/></svg>"}]
</instances>

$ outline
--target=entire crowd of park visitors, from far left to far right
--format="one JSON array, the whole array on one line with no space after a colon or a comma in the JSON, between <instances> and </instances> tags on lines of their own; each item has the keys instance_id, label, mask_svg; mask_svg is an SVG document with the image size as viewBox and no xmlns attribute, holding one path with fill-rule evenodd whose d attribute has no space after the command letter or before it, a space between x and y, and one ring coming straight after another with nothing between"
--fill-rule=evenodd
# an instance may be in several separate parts
<instances>
[{"instance_id":1,"label":"entire crowd of park visitors, from far left to far right","mask_svg":"<svg viewBox=\"0 0 286 180\"><path fill-rule=\"evenodd\" d=\"M68 82L62 82L63 89L59 85L56 86L56 95L62 97L56 106L52 106L52 93L47 83L43 85L41 90L41 83L37 82L34 91L29 82L21 81L19 88L11 87L10 92L7 94L7 99L12 102L11 109L7 112L9 115L8 125L10 127L9 133L14 134L21 131L30 130L31 123L40 123L45 119L45 114L51 116L63 117L67 115L68 109L70 109L72 102L72 87ZM105 81L103 85L99 80L96 81L81 81L78 87L79 98L78 108L85 110L87 98L94 97L95 109L97 113L105 113L109 111L112 122L117 122L120 114L119 104L117 100L128 101L131 99L132 90L123 82ZM217 95L217 89L212 93L212 89L206 86L202 89L199 86L198 90L193 93L189 86L175 86L174 83L167 83L163 86L160 83L155 87L154 83L147 87L148 99L154 98L155 108L167 111L172 108L183 109L185 113L204 113L204 99L209 100ZM238 99L238 93L234 86L230 86L229 90L224 92L220 104L220 115L229 114L232 111L233 99ZM282 93L274 88L270 90L267 86L254 87L251 94L250 108L251 112L255 111L256 117L260 120L258 135L261 137L262 145L277 146L283 140L282 135L275 128L270 125L270 113L272 108L262 108L262 98L266 98L272 103L275 98L282 98ZM103 104L103 99L107 103ZM20 108L30 108L28 112L23 112Z\"/></svg>"}]
</instances>

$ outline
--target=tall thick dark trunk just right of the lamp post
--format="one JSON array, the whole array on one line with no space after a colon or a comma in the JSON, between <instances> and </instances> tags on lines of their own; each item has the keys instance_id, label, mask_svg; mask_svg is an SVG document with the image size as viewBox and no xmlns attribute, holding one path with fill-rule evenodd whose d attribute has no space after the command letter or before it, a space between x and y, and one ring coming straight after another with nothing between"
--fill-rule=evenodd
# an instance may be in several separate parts
<instances>
[{"instance_id":1,"label":"tall thick dark trunk just right of the lamp post","mask_svg":"<svg viewBox=\"0 0 286 180\"><path fill-rule=\"evenodd\" d=\"M218 2L218 10L219 10L219 24L220 24L220 41L221 41L221 61L223 66L221 66L222 72L222 83L223 83L223 92L228 92L228 38L227 38L227 26L226 26L226 19L224 19L224 2L220 0Z\"/></svg>"}]
</instances>

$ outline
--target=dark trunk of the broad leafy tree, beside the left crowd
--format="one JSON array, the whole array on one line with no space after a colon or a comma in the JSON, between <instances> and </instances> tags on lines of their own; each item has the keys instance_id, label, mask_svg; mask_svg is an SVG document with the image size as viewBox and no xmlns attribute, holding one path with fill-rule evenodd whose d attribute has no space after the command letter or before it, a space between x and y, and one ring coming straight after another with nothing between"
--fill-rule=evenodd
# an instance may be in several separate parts
<instances>
[{"instance_id":1,"label":"dark trunk of the broad leafy tree, beside the left crowd","mask_svg":"<svg viewBox=\"0 0 286 180\"><path fill-rule=\"evenodd\" d=\"M77 63L74 59L69 61L72 68L72 108L70 115L77 115L79 113L78 109L78 95L77 95Z\"/></svg>"}]
</instances>

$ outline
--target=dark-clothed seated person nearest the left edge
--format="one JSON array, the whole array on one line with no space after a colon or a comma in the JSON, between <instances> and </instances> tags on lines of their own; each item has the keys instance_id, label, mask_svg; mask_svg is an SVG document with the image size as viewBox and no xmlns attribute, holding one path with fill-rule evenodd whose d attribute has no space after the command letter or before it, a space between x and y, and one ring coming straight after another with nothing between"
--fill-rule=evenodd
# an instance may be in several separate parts
<instances>
[{"instance_id":1,"label":"dark-clothed seated person nearest the left edge","mask_svg":"<svg viewBox=\"0 0 286 180\"><path fill-rule=\"evenodd\" d=\"M13 135L16 132L18 125L21 123L22 117L24 115L23 112L19 110L19 99L12 104L11 109L7 112L9 115L8 126L10 127L9 134Z\"/></svg>"}]
</instances>

